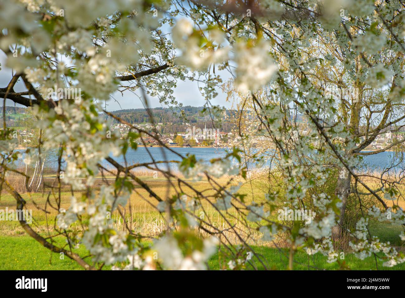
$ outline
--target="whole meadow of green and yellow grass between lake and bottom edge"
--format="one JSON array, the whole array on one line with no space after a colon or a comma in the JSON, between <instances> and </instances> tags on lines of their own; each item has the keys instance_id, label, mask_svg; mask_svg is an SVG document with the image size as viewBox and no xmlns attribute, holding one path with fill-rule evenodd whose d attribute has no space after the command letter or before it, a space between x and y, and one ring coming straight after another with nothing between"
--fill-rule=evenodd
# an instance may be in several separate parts
<instances>
[{"instance_id":1,"label":"whole meadow of green and yellow grass between lake and bottom edge","mask_svg":"<svg viewBox=\"0 0 405 298\"><path fill-rule=\"evenodd\" d=\"M147 181L149 187L158 194L159 196L165 197L167 194L173 195L179 189L176 187L168 185L167 181L163 177L152 177L147 173L142 173L143 176L140 176L143 181ZM111 179L113 182L113 177L106 177L107 181ZM50 177L46 177L50 179ZM45 179L45 181L46 181ZM256 182L255 182L256 181ZM101 181L99 181L101 183ZM213 189L209 181L199 181L193 182L188 180L188 183L198 191L203 192L207 196L212 195ZM222 181L222 182L225 182ZM17 182L14 181L16 184ZM260 201L264 197L265 189L267 186L263 185L262 180L254 179L253 183L244 183L241 186L241 192L245 192L247 197L245 198L246 202L252 200ZM188 189L182 188L183 192L187 193ZM33 211L33 224L32 227L39 234L44 237L51 236L51 230L55 224L55 216L57 211L55 209L49 208L49 203L52 203L53 195L48 191L43 192L34 192L26 193L23 197L27 200L26 209L32 209ZM41 208L44 208L47 204L47 213L44 213ZM65 189L61 193L61 208L68 209L70 205L70 198L72 194L68 192L68 189ZM79 198L80 193L75 193L75 196ZM123 209L124 218L118 214L118 212L113 213L112 217L114 219L114 225L117 229L124 229L127 225L134 232L142 232L147 234L150 237L157 236L160 234L164 228L164 218L162 215L153 207L156 206L157 201L151 200L149 194L145 189L141 188L139 185L135 185L134 192L130 197L130 203L126 209ZM0 199L0 209L5 208L13 209L15 208L15 199L11 195L3 193ZM209 220L215 226L223 226L224 219L220 217L215 209L209 204L209 202L203 203L205 213ZM350 209L350 206L349 206ZM354 208L355 209L355 208ZM349 210L350 211L350 210ZM197 211L198 212L198 211ZM350 213L349 213L350 214ZM230 217L228 220L232 220L232 215L235 215L230 211ZM273 219L276 219L277 213L271 215ZM124 223L125 219L125 223ZM86 221L86 218L82 219ZM235 220L235 219L234 219ZM237 224L237 220L235 220ZM250 241L249 244L252 245L252 248L258 253L258 256L266 264L266 268L283 270L288 266L288 244L286 243L283 235L277 237L273 242L264 242L260 240L260 234L256 233L252 235L251 230L246 230L246 227L239 226L241 233L245 232L246 235L249 235ZM245 231L243 231L245 228ZM381 241L389 241L391 245L394 245L398 250L403 250L403 243L399 238L399 234L402 230L402 227L399 225L393 225L389 223L379 223L372 221L370 223L370 232L372 236L378 236ZM72 230L80 230L81 226L79 224L74 224ZM201 233L202 236L207 236L204 233ZM235 245L240 244L237 237L228 232L226 235L232 243ZM52 241L55 241L59 246L65 246L64 238L61 236L52 237ZM146 241L145 241L146 243ZM223 249L220 247L219 249ZM83 245L80 245L78 249L74 249L81 256L87 256L88 252L86 251ZM350 249L345 247L342 249L345 256L344 260L338 260L338 262L329 264L326 262L326 256L321 253L315 255L307 255L304 251L297 251L294 256L294 269L295 270L315 270L315 269L352 269L352 270L374 270L376 269L376 262L378 269L394 269L394 270L404 270L405 265L401 264L393 268L386 268L382 266L384 260L374 257L366 258L365 260L359 260L355 258L354 255L350 252ZM339 253L341 252L339 251ZM220 257L217 253L213 255L208 261L210 269L224 269L226 268L228 260ZM257 268L262 269L263 266L256 260L252 258L251 261ZM108 269L111 266L105 266L103 269ZM247 265L247 269L252 268L250 265ZM70 260L67 257L63 259L60 258L60 255L57 253L52 253L45 247L42 247L37 243L33 238L30 238L25 231L21 228L18 221L0 221L0 269L5 270L81 270L82 268L74 261Z\"/></svg>"}]
</instances>

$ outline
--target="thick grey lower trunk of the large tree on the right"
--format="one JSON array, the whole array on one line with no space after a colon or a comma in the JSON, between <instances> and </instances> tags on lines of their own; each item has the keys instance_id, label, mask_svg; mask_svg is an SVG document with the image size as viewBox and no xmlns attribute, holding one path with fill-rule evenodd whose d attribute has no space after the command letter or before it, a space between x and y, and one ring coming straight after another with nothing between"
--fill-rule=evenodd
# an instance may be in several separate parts
<instances>
[{"instance_id":1,"label":"thick grey lower trunk of the large tree on the right","mask_svg":"<svg viewBox=\"0 0 405 298\"><path fill-rule=\"evenodd\" d=\"M347 205L347 197L350 194L350 181L351 181L351 174L346 168L343 168L339 171L339 176L337 179L337 185L335 188L335 195L338 196L342 200L342 206L340 207L340 219L339 224L332 228L332 236L333 238L339 238L342 234L342 226L343 226L343 217L345 215L346 205Z\"/></svg>"}]
</instances>

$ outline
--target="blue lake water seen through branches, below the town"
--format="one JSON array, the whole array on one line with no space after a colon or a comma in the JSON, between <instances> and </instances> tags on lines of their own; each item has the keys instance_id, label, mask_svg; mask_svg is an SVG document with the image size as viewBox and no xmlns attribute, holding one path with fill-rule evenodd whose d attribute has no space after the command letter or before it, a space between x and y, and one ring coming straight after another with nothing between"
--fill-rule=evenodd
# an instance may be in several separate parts
<instances>
[{"instance_id":1,"label":"blue lake water seen through branches, below the town","mask_svg":"<svg viewBox=\"0 0 405 298\"><path fill-rule=\"evenodd\" d=\"M186 154L194 154L197 160L204 160L209 161L213 158L220 158L226 155L226 149L224 148L212 148L212 147L198 147L198 148L179 148L173 147L171 148L173 151L180 153L181 155L185 156ZM166 159L162 151L164 150L166 154ZM228 149L229 150L229 149ZM149 153L148 153L149 151ZM112 155L111 155L112 156ZM136 150L128 149L126 154L126 161L128 164L134 163L145 163L145 162L152 162L152 158L155 161L161 160L178 160L181 161L181 158L176 155L175 153L163 148L163 147L138 147ZM119 156L115 157L115 160L120 164L124 165L124 157ZM399 158L394 157L394 153L390 151L381 152L373 155L366 155L364 156L364 166L363 169L372 171L372 170L381 170L384 169L392 164L397 164L399 162ZM22 165L22 160L19 160L19 165ZM110 164L107 161L102 162L103 166L109 167ZM50 168L57 168L57 160L55 157L48 157L46 166ZM163 167L163 164L161 165ZM399 166L396 166L396 169L399 170L403 168L403 163ZM172 168L177 168L174 164L171 165Z\"/></svg>"}]
</instances>

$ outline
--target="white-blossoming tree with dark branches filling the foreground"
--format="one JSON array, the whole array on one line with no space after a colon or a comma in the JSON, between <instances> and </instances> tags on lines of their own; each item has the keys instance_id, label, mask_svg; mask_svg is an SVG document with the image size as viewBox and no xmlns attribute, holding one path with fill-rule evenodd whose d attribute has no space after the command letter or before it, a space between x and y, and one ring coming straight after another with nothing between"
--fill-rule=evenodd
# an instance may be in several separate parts
<instances>
[{"instance_id":1,"label":"white-blossoming tree with dark branches filling the foreground","mask_svg":"<svg viewBox=\"0 0 405 298\"><path fill-rule=\"evenodd\" d=\"M392 207L386 203L403 199L397 183L384 181L380 189L372 189L355 172L361 150L389 126L401 126L404 118L399 114L405 92L403 10L402 2L395 0L0 1L0 47L13 69L8 85L0 88L3 106L6 100L30 106L38 119L39 145L24 152L24 162L34 164L56 151L59 165L41 209L58 213L55 226L46 231L47 236L25 220L21 226L41 245L86 269L104 265L204 269L218 247L229 268L248 264L270 268L252 243L257 235L260 241L271 242L279 233L288 234L290 269L294 253L302 248L336 262L332 228L339 226L339 215L343 217L352 180L379 204L369 210L370 215L399 224L405 221L398 203L393 201ZM127 162L126 153L129 147L137 149L136 140L145 136L160 140L106 110L113 92L137 90L145 102L149 94L178 106L173 96L177 81L198 76L205 112L219 123L224 109L215 104L217 87L229 75L249 117L244 126L239 121L244 129L224 158L207 166L194 155L162 147L163 156L171 151L181 158L177 162L181 176L161 166L168 160ZM26 91L15 92L17 81L24 83ZM325 90L332 85L360 89L360 100L328 96ZM80 93L58 92L59 88ZM291 111L305 117L311 134L297 131ZM111 132L111 123L99 113L130 126L128 140ZM3 114L5 119L5 108ZM377 128L363 125L378 118ZM17 209L23 209L32 199L30 193L17 192L6 179L8 172L25 175L14 166L22 155L12 134L4 120L1 187L15 198ZM247 202L235 181L248 178L247 157L263 165L262 154L246 154L258 135L271 139L271 157L277 160L279 172L269 179L283 185L284 191ZM322 145L313 145L315 137ZM124 163L117 162L119 155ZM104 160L115 171L105 168ZM343 171L335 194L318 191L331 173L331 164ZM160 172L175 194L154 192L132 171L141 166ZM115 183L111 185L103 175L104 184L96 191L93 186L100 172L115 175ZM207 179L213 192L196 189L188 178ZM65 183L72 193L67 210L61 208ZM142 196L139 187L149 196ZM165 229L152 242L150 235L128 225L116 229L109 216L116 212L125 218L133 193L164 218ZM296 209L312 209L310 224L274 220L271 211L280 200ZM204 216L207 206L222 218L222 226ZM385 266L405 262L389 243L371 237L367 224L362 218L350 231L356 256L377 258L383 252ZM66 238L66 246L53 240L60 236ZM400 236L405 238L404 233ZM79 244L90 251L91 261L73 252Z\"/></svg>"}]
</instances>

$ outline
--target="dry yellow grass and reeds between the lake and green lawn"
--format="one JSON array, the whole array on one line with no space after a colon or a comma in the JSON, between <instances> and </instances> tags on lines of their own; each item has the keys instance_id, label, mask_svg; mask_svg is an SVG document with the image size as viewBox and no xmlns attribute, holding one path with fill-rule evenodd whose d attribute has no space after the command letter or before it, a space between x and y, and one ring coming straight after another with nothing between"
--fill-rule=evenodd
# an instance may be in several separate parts
<instances>
[{"instance_id":1,"label":"dry yellow grass and reeds between the lake and green lawn","mask_svg":"<svg viewBox=\"0 0 405 298\"><path fill-rule=\"evenodd\" d=\"M116 172L107 173L104 172L104 177L107 179L103 181L102 179L96 179L94 189L98 189L103 183L113 183L116 175ZM150 170L137 170L134 172L137 177L140 177L143 181L147 181L149 187L162 198L170 197L177 192L185 192L186 194L193 194L193 191L188 187L183 187L181 190L177 185L173 186L168 183L164 178L162 173L154 173ZM51 174L48 174L51 175ZM251 178L260 180L260 172L253 172ZM101 176L99 177L101 178ZM388 179L389 177L384 177ZM53 231L53 226L55 224L55 216L58 214L56 209L52 209L50 204L55 206L55 196L57 194L52 191L47 185L51 184L52 181L55 181L55 177L45 177L45 184L41 188L41 192L28 193L25 190L25 181L22 176L9 176L7 177L9 183L17 189L17 191L22 193L23 198L27 201L26 209L33 210L33 217L35 219L33 223L34 229L44 235L51 235ZM222 180L222 183L225 183L225 179ZM237 181L235 181L237 182ZM195 187L198 191L204 192L205 195L210 196L214 194L212 186L208 181L192 182L188 181ZM371 187L376 187L378 181L375 178L367 178L367 184ZM166 229L166 222L163 217L154 207L157 205L158 201L149 196L149 193L140 187L139 185L134 185L134 192L130 197L130 202L127 204L126 208L121 208L124 216L122 217L118 211L115 211L112 215L114 219L114 226L118 230L124 230L128 226L130 230L133 230L135 233L140 233L142 235L155 237ZM248 194L246 198L246 204L249 204L252 201L252 194L254 194L255 201L260 200L264 197L264 189L256 187L253 185L254 190L252 192L252 185L246 183L242 186L241 192ZM359 189L360 190L360 189ZM362 191L364 189L361 189ZM81 196L80 192L75 192L75 196L79 198ZM48 201L49 197L49 201ZM62 196L61 196L61 208L68 209L70 206L70 189L67 185L62 187ZM48 202L48 203L47 203ZM373 202L376 204L375 202ZM392 201L388 202L392 204ZM405 206L404 202L401 202L402 206ZM0 209L8 207L9 209L15 209L15 200L8 194L1 194L0 198ZM43 210L46 210L47 213L44 213ZM275 239L274 243L268 243L260 241L261 234L255 230L257 226L254 224L246 224L243 221L243 218L240 213L237 213L234 209L228 210L225 218L222 217L214 208L211 206L210 202L203 202L203 209L205 211L204 220L209 222L212 226L218 230L222 230L222 234L218 235L223 240L226 238L230 243L236 245L240 244L235 230L239 235L243 237L250 245L260 245L260 246L270 246L274 247L277 244L278 247L287 247L286 235L278 236ZM196 217L201 216L202 210L196 211ZM87 221L88 218L82 218L83 221ZM230 228L228 222L232 225ZM204 225L203 227L215 232L215 229ZM72 226L72 230L81 230L81 225L75 224ZM198 233L202 236L208 236L207 232L196 229ZM8 236L18 236L24 234L25 232L20 227L17 221L0 221L0 234ZM347 239L341 239L342 243L347 243Z\"/></svg>"}]
</instances>

